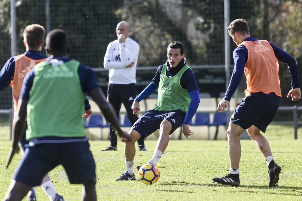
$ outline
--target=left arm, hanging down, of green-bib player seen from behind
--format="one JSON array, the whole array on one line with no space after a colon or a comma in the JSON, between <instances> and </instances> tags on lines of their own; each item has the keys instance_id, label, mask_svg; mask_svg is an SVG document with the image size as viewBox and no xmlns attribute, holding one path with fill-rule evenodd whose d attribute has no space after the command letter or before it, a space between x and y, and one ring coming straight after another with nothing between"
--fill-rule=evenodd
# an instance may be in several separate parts
<instances>
[{"instance_id":1,"label":"left arm, hanging down, of green-bib player seen from behind","mask_svg":"<svg viewBox=\"0 0 302 201\"><path fill-rule=\"evenodd\" d=\"M27 102L29 99L29 91L31 90L31 87L34 82L34 69L32 69L24 78L23 84L22 84L22 90L19 96L18 100L18 109L16 112L16 115L14 116L13 120L13 127L12 127L12 144L11 148L9 150L8 154L8 161L6 163L6 168L11 162L11 159L13 158L15 153L19 152L19 146L18 142L21 139L22 134L24 133L26 123L25 123L25 118L26 118L26 107L27 107Z\"/></svg>"}]
</instances>

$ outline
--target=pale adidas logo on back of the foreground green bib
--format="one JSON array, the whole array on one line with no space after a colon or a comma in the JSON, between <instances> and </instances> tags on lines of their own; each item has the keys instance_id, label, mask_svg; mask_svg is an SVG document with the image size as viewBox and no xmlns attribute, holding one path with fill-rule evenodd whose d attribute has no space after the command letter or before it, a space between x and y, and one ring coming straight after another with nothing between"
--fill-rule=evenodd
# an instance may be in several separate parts
<instances>
[{"instance_id":1,"label":"pale adidas logo on back of the foreground green bib","mask_svg":"<svg viewBox=\"0 0 302 201\"><path fill-rule=\"evenodd\" d=\"M62 61L63 62L63 61ZM43 77L45 79L48 78L55 78L55 77L64 77L64 78L70 78L74 77L74 74L72 71L69 71L69 69L64 65L56 64L49 68L45 74L43 74Z\"/></svg>"}]
</instances>

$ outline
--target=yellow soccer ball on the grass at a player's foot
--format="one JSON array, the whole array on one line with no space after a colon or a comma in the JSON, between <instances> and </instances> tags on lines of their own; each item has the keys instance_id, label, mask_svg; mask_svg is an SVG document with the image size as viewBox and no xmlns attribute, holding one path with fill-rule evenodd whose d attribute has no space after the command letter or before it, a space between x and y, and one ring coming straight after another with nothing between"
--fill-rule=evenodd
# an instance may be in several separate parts
<instances>
[{"instance_id":1,"label":"yellow soccer ball on the grass at a player's foot","mask_svg":"<svg viewBox=\"0 0 302 201\"><path fill-rule=\"evenodd\" d=\"M156 165L146 163L140 167L138 171L140 181L144 184L155 184L159 179L159 169Z\"/></svg>"}]
</instances>

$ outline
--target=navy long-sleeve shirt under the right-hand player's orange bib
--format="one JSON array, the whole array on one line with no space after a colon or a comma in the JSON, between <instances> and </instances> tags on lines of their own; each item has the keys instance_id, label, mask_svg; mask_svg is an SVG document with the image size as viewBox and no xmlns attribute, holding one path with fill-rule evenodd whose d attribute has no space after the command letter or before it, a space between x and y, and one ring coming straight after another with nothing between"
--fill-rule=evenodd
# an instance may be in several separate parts
<instances>
[{"instance_id":1,"label":"navy long-sleeve shirt under the right-hand player's orange bib","mask_svg":"<svg viewBox=\"0 0 302 201\"><path fill-rule=\"evenodd\" d=\"M244 39L243 41L257 41L258 39L248 37ZM276 58L279 61L282 61L286 64L288 64L288 70L291 76L291 88L299 88L300 83L299 83L299 76L298 76L298 68L297 68L297 63L295 59L289 55L287 52L282 50L281 48L275 46L271 42L269 43L275 53ZM248 59L248 50L244 45L241 45L237 47L234 52L233 52L233 58L234 58L234 69L232 73L232 77L230 80L230 84L226 90L226 93L223 97L223 99L230 101L231 97L235 93L241 78L244 74L244 68L245 64ZM259 94L258 94L259 96ZM261 93L261 96L270 96L266 95L264 93Z\"/></svg>"}]
</instances>

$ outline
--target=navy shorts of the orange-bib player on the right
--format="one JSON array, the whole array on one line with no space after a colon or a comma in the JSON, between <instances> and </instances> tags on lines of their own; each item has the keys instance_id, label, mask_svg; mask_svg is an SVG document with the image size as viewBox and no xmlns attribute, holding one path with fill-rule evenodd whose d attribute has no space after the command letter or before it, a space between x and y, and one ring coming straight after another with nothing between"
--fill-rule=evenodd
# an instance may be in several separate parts
<instances>
[{"instance_id":1,"label":"navy shorts of the orange-bib player on the right","mask_svg":"<svg viewBox=\"0 0 302 201\"><path fill-rule=\"evenodd\" d=\"M242 99L230 121L243 129L252 125L265 132L280 105L279 96L248 96Z\"/></svg>"}]
</instances>

